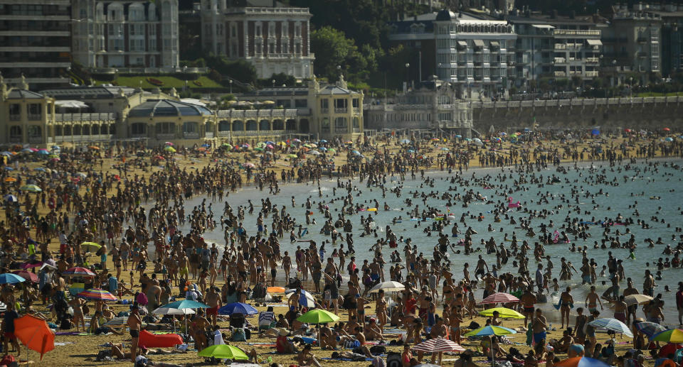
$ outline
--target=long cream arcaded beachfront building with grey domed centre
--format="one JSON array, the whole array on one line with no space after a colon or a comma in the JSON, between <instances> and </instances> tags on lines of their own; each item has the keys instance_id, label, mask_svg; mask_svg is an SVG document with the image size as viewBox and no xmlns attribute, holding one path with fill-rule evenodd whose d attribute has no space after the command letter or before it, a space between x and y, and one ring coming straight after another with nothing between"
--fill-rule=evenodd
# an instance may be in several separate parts
<instances>
[{"instance_id":1,"label":"long cream arcaded beachfront building with grey domed centre","mask_svg":"<svg viewBox=\"0 0 683 367\"><path fill-rule=\"evenodd\" d=\"M46 89L1 82L0 144L51 146L115 141L172 141L192 146L208 141L281 141L286 138L356 139L364 132L363 94L337 84L272 88L241 95L233 109L209 109L164 94L112 85ZM247 102L251 101L251 102Z\"/></svg>"}]
</instances>

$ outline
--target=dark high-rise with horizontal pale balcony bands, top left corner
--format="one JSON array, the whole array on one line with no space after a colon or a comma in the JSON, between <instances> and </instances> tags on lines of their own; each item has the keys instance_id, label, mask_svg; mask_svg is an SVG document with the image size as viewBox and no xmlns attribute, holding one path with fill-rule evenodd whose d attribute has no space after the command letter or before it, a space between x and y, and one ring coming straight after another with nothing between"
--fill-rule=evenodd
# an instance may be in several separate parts
<instances>
[{"instance_id":1,"label":"dark high-rise with horizontal pale balcony bands, top left corner","mask_svg":"<svg viewBox=\"0 0 683 367\"><path fill-rule=\"evenodd\" d=\"M31 87L68 84L70 1L0 1L0 72Z\"/></svg>"}]
</instances>

